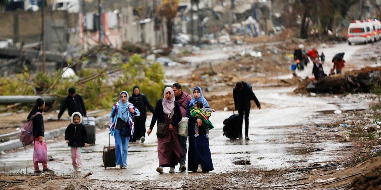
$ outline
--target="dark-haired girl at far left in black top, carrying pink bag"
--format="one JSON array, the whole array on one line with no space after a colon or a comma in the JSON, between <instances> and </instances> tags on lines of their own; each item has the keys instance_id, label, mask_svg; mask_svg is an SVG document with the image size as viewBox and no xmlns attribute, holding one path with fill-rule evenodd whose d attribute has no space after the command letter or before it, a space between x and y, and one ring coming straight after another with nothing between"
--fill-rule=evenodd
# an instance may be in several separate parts
<instances>
[{"instance_id":1,"label":"dark-haired girl at far left in black top, carrying pink bag","mask_svg":"<svg viewBox=\"0 0 381 190\"><path fill-rule=\"evenodd\" d=\"M32 111L29 112L27 120L33 120L33 136L34 136L34 154L33 154L33 165L34 173L40 174L42 172L52 172L53 170L48 168L47 162L47 152L46 143L44 141L45 136L45 127L44 127L44 118L42 116L43 109L45 108L45 101L42 98L36 100ZM42 154L36 154L36 153ZM41 161L44 160L44 161ZM38 163L42 163L43 170L41 171L38 168Z\"/></svg>"}]
</instances>

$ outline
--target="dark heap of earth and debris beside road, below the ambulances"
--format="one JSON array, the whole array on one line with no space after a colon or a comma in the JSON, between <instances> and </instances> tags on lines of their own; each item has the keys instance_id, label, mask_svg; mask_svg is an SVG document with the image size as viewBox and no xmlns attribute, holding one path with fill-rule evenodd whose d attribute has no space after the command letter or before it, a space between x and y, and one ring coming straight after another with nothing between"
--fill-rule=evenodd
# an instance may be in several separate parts
<instances>
[{"instance_id":1,"label":"dark heap of earth and debris beside road, below the ambulances","mask_svg":"<svg viewBox=\"0 0 381 190\"><path fill-rule=\"evenodd\" d=\"M345 74L327 76L319 81L304 79L296 93L369 93L375 84L381 81L381 67L366 67Z\"/></svg>"}]
</instances>

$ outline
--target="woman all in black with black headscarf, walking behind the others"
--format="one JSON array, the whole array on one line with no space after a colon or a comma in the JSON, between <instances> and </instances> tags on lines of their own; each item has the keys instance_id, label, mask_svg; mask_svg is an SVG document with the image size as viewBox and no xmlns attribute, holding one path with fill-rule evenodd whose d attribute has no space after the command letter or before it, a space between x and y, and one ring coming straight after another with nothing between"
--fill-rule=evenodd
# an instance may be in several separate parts
<instances>
[{"instance_id":1,"label":"woman all in black with black headscarf, walking behind the others","mask_svg":"<svg viewBox=\"0 0 381 190\"><path fill-rule=\"evenodd\" d=\"M135 117L135 132L134 135L130 138L130 142L140 140L140 143L143 143L146 140L146 107L152 113L154 112L154 108L149 103L147 96L143 93L140 93L139 86L134 86L132 88L132 92L133 94L130 96L130 98L128 98L128 101L140 111L140 116Z\"/></svg>"}]
</instances>

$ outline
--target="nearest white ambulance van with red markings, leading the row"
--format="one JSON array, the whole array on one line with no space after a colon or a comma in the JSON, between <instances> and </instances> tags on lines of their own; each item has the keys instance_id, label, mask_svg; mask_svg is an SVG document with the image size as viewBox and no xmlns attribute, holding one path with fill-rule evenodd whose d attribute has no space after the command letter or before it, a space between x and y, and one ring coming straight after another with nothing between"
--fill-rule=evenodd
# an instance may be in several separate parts
<instances>
[{"instance_id":1,"label":"nearest white ambulance van with red markings, leading the row","mask_svg":"<svg viewBox=\"0 0 381 190\"><path fill-rule=\"evenodd\" d=\"M372 38L368 35L370 27L368 24L365 24L363 21L352 21L348 27L348 44L352 45L354 43L363 43L367 44L372 41Z\"/></svg>"}]
</instances>

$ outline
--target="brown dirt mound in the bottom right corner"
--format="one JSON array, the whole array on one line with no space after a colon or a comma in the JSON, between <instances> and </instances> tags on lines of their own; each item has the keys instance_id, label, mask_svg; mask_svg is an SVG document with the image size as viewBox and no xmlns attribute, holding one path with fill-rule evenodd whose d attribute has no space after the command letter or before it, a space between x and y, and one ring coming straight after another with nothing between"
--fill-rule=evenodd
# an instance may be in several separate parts
<instances>
[{"instance_id":1,"label":"brown dirt mound in the bottom right corner","mask_svg":"<svg viewBox=\"0 0 381 190\"><path fill-rule=\"evenodd\" d=\"M347 190L379 190L381 189L381 166L353 180Z\"/></svg>"}]
</instances>

